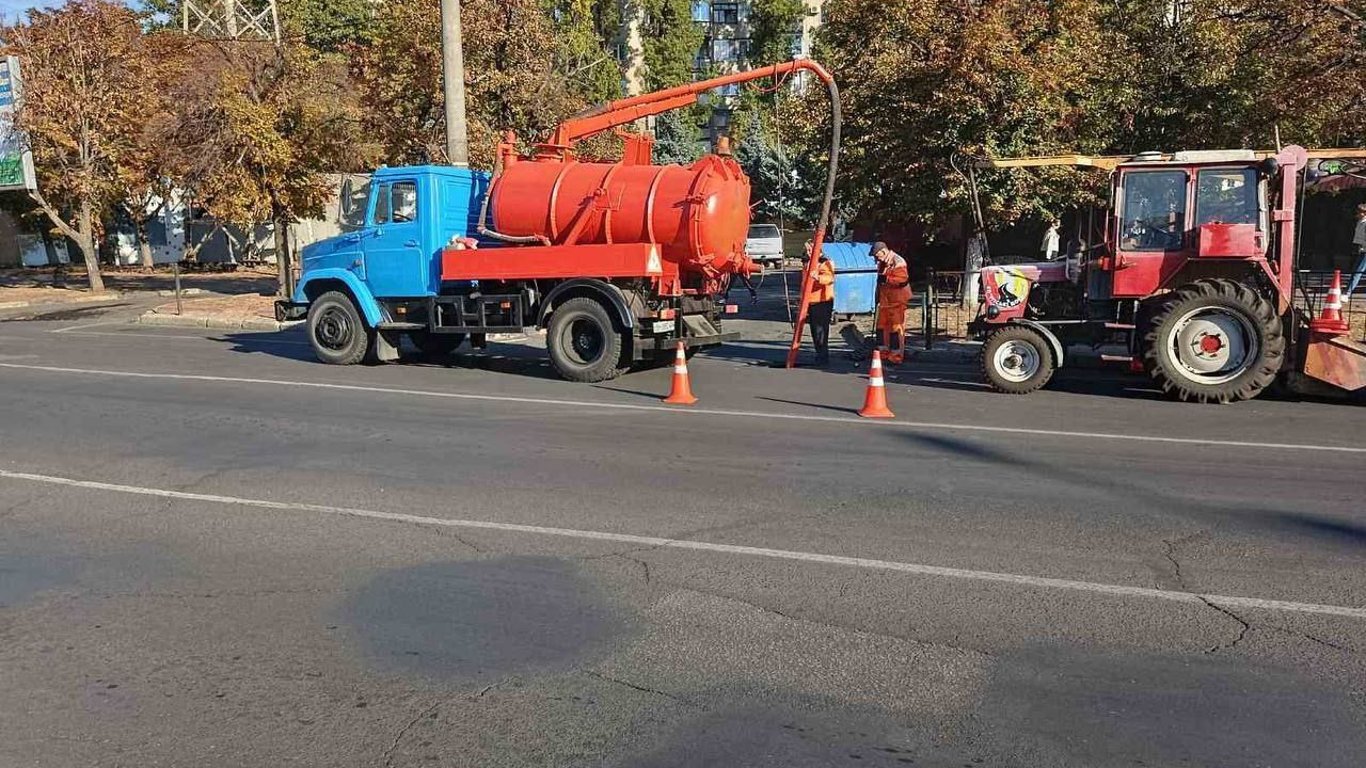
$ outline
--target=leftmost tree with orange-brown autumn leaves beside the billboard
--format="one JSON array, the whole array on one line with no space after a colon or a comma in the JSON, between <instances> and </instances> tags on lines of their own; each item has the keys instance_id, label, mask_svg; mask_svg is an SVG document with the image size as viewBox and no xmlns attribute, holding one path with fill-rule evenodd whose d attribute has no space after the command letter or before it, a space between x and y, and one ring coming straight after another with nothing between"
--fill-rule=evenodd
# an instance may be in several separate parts
<instances>
[{"instance_id":1,"label":"leftmost tree with orange-brown autumn leaves beside the billboard","mask_svg":"<svg viewBox=\"0 0 1366 768\"><path fill-rule=\"evenodd\" d=\"M85 260L92 291L104 290L101 219L138 176L148 123L157 112L158 63L143 16L109 0L70 0L30 10L0 30L4 52L19 57L23 93L15 130L33 152L31 193L52 227Z\"/></svg>"}]
</instances>

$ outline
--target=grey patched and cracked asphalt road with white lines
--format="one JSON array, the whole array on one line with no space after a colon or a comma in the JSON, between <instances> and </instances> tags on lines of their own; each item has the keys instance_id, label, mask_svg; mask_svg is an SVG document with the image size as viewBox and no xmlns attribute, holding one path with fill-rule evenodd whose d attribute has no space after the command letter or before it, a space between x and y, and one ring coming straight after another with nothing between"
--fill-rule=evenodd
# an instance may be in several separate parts
<instances>
[{"instance_id":1,"label":"grey patched and cracked asphalt road with white lines","mask_svg":"<svg viewBox=\"0 0 1366 768\"><path fill-rule=\"evenodd\" d=\"M0 323L0 765L1366 761L1366 411Z\"/></svg>"}]
</instances>

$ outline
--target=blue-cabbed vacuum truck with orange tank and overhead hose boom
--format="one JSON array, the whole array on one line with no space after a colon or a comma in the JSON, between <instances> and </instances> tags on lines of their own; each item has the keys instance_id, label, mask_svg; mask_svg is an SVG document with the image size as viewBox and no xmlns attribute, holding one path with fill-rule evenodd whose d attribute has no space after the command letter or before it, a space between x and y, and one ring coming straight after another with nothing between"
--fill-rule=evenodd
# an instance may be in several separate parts
<instances>
[{"instance_id":1,"label":"blue-cabbed vacuum truck with orange tank and overhead hose boom","mask_svg":"<svg viewBox=\"0 0 1366 768\"><path fill-rule=\"evenodd\" d=\"M448 354L492 333L544 329L555 370L604 381L632 365L672 359L738 338L736 312L719 301L727 280L758 266L744 251L750 180L723 138L690 167L652 163L653 138L623 126L690 107L740 82L806 71L839 92L807 59L623 98L566 120L529 152L508 133L490 174L441 165L380 168L361 221L302 251L302 273L280 320L307 320L318 359L352 365L398 359L408 339ZM576 153L616 130L617 161ZM839 156L831 148L829 216Z\"/></svg>"}]
</instances>

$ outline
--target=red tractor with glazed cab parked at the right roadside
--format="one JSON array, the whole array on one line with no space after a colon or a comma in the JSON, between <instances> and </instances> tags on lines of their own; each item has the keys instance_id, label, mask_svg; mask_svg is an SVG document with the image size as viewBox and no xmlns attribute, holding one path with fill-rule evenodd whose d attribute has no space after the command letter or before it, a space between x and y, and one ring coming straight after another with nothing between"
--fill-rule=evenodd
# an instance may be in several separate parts
<instances>
[{"instance_id":1,"label":"red tractor with glazed cab parked at the right roadside","mask_svg":"<svg viewBox=\"0 0 1366 768\"><path fill-rule=\"evenodd\" d=\"M1056 261L982 269L971 331L984 340L986 381L1033 392L1070 347L1123 344L1128 354L1105 359L1142 366L1182 400L1251 399L1296 370L1366 388L1366 347L1311 331L1295 309L1307 163L1299 146L982 163L1091 167L1111 171L1113 183L1104 243L1074 241Z\"/></svg>"}]
</instances>

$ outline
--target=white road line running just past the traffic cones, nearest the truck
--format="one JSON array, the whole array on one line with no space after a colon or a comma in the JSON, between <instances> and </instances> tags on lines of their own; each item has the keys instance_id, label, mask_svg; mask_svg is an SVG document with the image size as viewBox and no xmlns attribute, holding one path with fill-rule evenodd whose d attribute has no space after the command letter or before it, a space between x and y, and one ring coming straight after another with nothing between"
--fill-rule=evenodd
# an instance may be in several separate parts
<instances>
[{"instance_id":1,"label":"white road line running just past the traffic cones, nearest the truck","mask_svg":"<svg viewBox=\"0 0 1366 768\"><path fill-rule=\"evenodd\" d=\"M0 362L0 368L16 370L42 370L46 373L78 373L87 376L109 376L116 379L167 379L173 381L216 381L224 384L262 384L279 387L299 387L311 389L337 389L344 392L369 392L380 395L406 395L413 398L441 398L449 400L475 400L493 403L520 403L534 406L572 406L576 409L624 410L660 413L673 415L719 415L724 418L757 418L769 421L807 421L824 424L844 424L850 426L896 426L902 429L940 432L978 432L988 435L1026 435L1033 437L1070 437L1079 440L1116 440L1128 443L1158 443L1175 445L1209 445L1218 448L1261 448L1268 451L1314 451L1326 454L1366 454L1366 448L1354 445L1314 445L1306 443L1257 443L1251 440L1214 440L1202 437L1162 437L1157 435L1117 435L1111 432L1068 432L1061 429L1030 429L1024 426L988 426L974 424L937 424L932 421L869 421L852 415L816 415L792 413L739 411L721 409L675 409L668 406L641 406L631 403L601 403L590 400L563 400L556 398L518 398L512 395L475 395L471 392L437 392L433 389L400 389L395 387L362 384L328 384L322 381L285 381L280 379L249 379L238 376L208 376L195 373L145 373L137 370L96 370L87 368L61 368L53 365L22 365Z\"/></svg>"}]
</instances>

